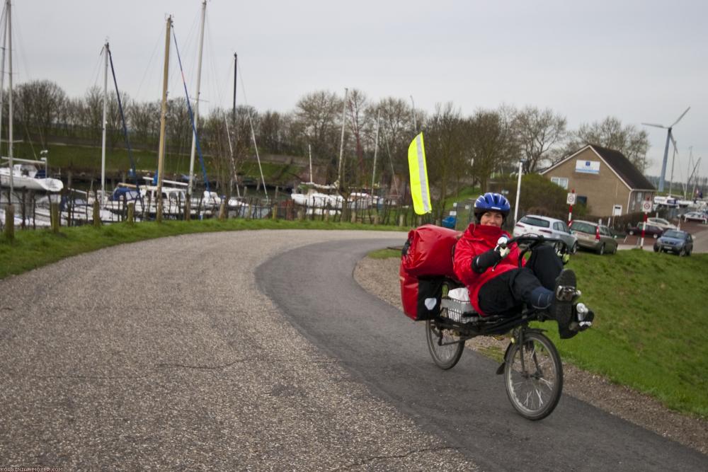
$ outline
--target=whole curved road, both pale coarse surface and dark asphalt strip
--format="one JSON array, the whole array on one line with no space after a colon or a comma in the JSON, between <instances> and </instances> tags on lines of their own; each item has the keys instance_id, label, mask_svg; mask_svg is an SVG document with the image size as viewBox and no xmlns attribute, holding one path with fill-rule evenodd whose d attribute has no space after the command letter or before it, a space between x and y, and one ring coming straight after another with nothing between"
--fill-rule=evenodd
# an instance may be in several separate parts
<instances>
[{"instance_id":1,"label":"whole curved road, both pale coarse surface and dark asphalt strip","mask_svg":"<svg viewBox=\"0 0 708 472\"><path fill-rule=\"evenodd\" d=\"M180 236L0 281L0 466L708 468L573 398L527 422L469 352L435 368L422 327L352 278L404 237Z\"/></svg>"}]
</instances>

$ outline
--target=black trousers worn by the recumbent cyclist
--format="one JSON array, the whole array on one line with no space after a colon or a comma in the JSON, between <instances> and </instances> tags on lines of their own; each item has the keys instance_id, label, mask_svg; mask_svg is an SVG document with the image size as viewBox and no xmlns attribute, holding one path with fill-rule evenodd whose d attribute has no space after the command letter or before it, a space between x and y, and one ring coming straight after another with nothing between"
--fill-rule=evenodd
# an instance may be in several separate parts
<instances>
[{"instance_id":1,"label":"black trousers worn by the recumbent cyclist","mask_svg":"<svg viewBox=\"0 0 708 472\"><path fill-rule=\"evenodd\" d=\"M491 270L491 267L487 270ZM479 289L479 308L490 315L517 313L537 287L553 290L563 262L552 246L535 248L524 267L508 270Z\"/></svg>"}]
</instances>

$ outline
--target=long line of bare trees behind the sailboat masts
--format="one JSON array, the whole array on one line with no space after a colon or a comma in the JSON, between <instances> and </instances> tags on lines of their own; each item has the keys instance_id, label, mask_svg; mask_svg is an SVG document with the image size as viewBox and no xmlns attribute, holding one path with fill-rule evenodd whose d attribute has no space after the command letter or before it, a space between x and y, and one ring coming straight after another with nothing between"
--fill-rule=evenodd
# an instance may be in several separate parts
<instances>
[{"instance_id":1,"label":"long line of bare trees behind the sailboat masts","mask_svg":"<svg viewBox=\"0 0 708 472\"><path fill-rule=\"evenodd\" d=\"M6 91L3 98L1 132L5 140ZM139 102L121 92L121 102L131 146L157 149L159 101ZM110 94L107 110L107 145L124 146L115 93ZM15 87L13 111L14 139L35 141L41 146L54 140L101 144L103 91L99 88L90 88L83 97L69 98L52 81L31 81ZM375 154L376 183L388 186L394 175L406 175L408 146L417 132L423 131L430 186L442 206L445 197L457 192L463 182L486 188L493 173L508 172L519 161L524 162L525 173L535 172L585 144L617 149L640 171L648 164L646 132L623 126L615 117L569 130L566 118L549 108L502 105L463 115L454 103L445 103L426 113L413 110L408 100L371 100L357 89L349 91L346 103L341 94L330 91L308 93L287 113L244 105L236 110L213 109L200 116L198 135L219 182L228 182L234 170L255 155L255 137L261 154L311 153L314 161L327 164L326 180L331 183L338 174L343 115L343 185L370 187ZM173 152L188 154L191 142L185 99L173 98L166 115L166 144Z\"/></svg>"}]
</instances>

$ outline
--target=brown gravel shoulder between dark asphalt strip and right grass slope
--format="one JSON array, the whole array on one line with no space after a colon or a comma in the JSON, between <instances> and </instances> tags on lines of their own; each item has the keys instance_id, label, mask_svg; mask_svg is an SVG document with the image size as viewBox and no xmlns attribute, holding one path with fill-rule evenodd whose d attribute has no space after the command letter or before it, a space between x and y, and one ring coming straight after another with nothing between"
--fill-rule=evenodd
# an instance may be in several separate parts
<instances>
[{"instance_id":1,"label":"brown gravel shoulder between dark asphalt strip and right grass slope","mask_svg":"<svg viewBox=\"0 0 708 472\"><path fill-rule=\"evenodd\" d=\"M367 292L402 311L399 263L397 258L364 258L358 263L354 277ZM401 316L404 314L401 313ZM507 344L507 341L496 341L489 337L467 341L467 347L475 350L493 346L501 352L506 349ZM589 374L570 364L564 364L563 372L564 394L579 398L612 415L708 454L708 421L675 413L649 396L611 384L601 376Z\"/></svg>"}]
</instances>

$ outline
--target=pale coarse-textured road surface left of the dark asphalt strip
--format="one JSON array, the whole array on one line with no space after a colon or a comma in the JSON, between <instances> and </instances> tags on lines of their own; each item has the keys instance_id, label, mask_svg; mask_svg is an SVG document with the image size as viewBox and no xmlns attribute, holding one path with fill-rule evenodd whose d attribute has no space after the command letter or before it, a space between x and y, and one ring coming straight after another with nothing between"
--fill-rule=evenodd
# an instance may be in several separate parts
<instances>
[{"instance_id":1,"label":"pale coarse-textured road surface left of the dark asphalt strip","mask_svg":"<svg viewBox=\"0 0 708 472\"><path fill-rule=\"evenodd\" d=\"M179 236L0 281L0 466L476 470L255 287L253 268L290 248L396 235Z\"/></svg>"}]
</instances>

